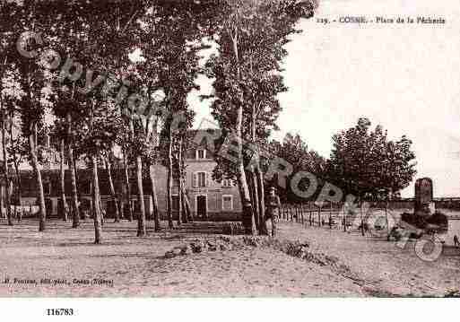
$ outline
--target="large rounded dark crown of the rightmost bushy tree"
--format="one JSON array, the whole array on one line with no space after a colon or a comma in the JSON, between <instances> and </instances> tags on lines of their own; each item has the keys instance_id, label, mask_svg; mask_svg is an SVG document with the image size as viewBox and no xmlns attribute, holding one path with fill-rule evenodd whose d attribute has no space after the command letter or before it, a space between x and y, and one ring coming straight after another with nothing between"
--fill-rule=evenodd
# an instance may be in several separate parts
<instances>
[{"instance_id":1,"label":"large rounded dark crown of the rightmost bushy tree","mask_svg":"<svg viewBox=\"0 0 460 322\"><path fill-rule=\"evenodd\" d=\"M368 118L333 136L329 179L360 198L386 199L409 186L416 174L412 141L392 141L382 126L371 129Z\"/></svg>"}]
</instances>

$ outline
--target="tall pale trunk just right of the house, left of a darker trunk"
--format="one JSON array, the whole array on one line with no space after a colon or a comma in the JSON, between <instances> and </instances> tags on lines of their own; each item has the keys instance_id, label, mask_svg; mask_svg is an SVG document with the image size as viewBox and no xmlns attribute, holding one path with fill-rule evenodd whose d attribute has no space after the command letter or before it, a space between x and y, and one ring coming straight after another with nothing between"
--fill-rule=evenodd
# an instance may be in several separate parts
<instances>
[{"instance_id":1,"label":"tall pale trunk just right of the house, left of a darker trunk","mask_svg":"<svg viewBox=\"0 0 460 322\"><path fill-rule=\"evenodd\" d=\"M240 71L240 66L239 66L238 29L235 28L235 30L233 30L233 35L231 36L231 39L233 42L233 53L235 55L235 64L237 66L238 79L241 80L241 71ZM240 98L240 101L243 101L242 97ZM242 127L243 127L243 105L241 104L241 102L239 102L237 106L237 123L236 123L236 128L235 128L236 136L237 136L236 141L239 147L237 179L238 179L238 185L239 185L239 190L240 190L241 202L243 204L243 216L250 217L250 220L249 218L243 219L243 222L246 224L245 230L247 232L250 231L252 235L255 235L256 234L255 226L252 225L252 222L254 222L254 213L252 212L251 195L249 193L249 187L247 187L247 178L246 178L245 167L243 163Z\"/></svg>"}]
</instances>

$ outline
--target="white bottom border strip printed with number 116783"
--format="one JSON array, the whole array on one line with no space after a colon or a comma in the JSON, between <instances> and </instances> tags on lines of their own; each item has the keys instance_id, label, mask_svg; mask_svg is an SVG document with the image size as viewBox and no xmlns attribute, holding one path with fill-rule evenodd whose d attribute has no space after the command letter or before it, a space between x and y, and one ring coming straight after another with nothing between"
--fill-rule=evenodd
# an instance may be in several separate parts
<instances>
[{"instance_id":1,"label":"white bottom border strip printed with number 116783","mask_svg":"<svg viewBox=\"0 0 460 322\"><path fill-rule=\"evenodd\" d=\"M4 321L446 321L458 300L435 299L2 299ZM72 308L73 317L48 317L47 309ZM178 309L180 308L180 309ZM427 309L430 308L430 309ZM154 312L154 313L153 313ZM226 313L223 313L226 312ZM222 314L223 313L223 314ZM233 314L232 314L233 313ZM153 316L152 316L153 314Z\"/></svg>"}]
</instances>

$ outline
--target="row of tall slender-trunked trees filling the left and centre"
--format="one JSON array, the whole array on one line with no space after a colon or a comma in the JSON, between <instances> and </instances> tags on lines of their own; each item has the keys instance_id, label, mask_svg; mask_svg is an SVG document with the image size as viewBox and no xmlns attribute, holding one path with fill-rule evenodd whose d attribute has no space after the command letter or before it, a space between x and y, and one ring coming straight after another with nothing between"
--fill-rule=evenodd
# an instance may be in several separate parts
<instances>
[{"instance_id":1,"label":"row of tall slender-trunked trees filling the left and centre","mask_svg":"<svg viewBox=\"0 0 460 322\"><path fill-rule=\"evenodd\" d=\"M213 116L224 133L236 129L239 162L217 159L218 171L237 178L251 232L264 229L264 180L256 155L247 169L242 137L265 141L280 111L276 95L285 91L283 46L298 32L301 18L312 16L315 3L295 0L7 0L0 4L0 108L4 181L8 164L16 170L29 161L37 178L39 231L46 229L46 205L40 168L52 151L43 140L50 134L61 156L61 194L65 203L65 162L71 172L73 227L80 224L76 161L92 170L95 242L101 241L98 168L108 170L116 221L126 200L117 200L111 177L120 160L126 195L131 196L128 169L136 171L137 235L145 229L143 196L152 195L155 229L160 229L152 164L168 168L168 218L172 221L172 181L178 178L179 222L189 219L184 187L187 129L194 112L187 104L199 89L198 74L213 77ZM24 33L26 32L26 33ZM206 65L200 52L215 43L218 53ZM18 50L21 49L21 50ZM134 55L137 53L137 55ZM20 126L14 126L18 125ZM160 127L160 130L158 130ZM9 139L8 139L9 137ZM143 191L148 175L152 191ZM21 187L19 188L21 191ZM10 194L5 200L8 223ZM133 219L128 202L127 217ZM66 207L64 207L66 209ZM187 212L188 211L188 212Z\"/></svg>"}]
</instances>

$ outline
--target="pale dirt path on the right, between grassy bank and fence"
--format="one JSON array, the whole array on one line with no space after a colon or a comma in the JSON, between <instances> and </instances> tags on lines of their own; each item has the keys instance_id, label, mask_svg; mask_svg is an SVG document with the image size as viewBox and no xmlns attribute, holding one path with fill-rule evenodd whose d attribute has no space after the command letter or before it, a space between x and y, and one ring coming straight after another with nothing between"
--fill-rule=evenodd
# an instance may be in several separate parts
<instances>
[{"instance_id":1,"label":"pale dirt path on the right, between grassy bank and fence","mask_svg":"<svg viewBox=\"0 0 460 322\"><path fill-rule=\"evenodd\" d=\"M399 296L443 296L448 289L460 289L460 251L450 251L433 262L416 256L414 243L400 248L386 238L362 237L351 233L283 222L280 235L310 240L311 250L336 256L373 282L371 290Z\"/></svg>"}]
</instances>

